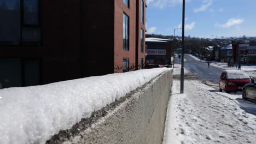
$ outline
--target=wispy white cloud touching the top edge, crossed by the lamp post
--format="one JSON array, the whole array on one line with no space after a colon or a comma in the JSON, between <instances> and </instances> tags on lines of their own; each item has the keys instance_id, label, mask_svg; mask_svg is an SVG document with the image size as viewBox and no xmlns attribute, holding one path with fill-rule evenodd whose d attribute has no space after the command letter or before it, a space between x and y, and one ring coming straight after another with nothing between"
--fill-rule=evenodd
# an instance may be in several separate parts
<instances>
[{"instance_id":1,"label":"wispy white cloud touching the top edge, crossed by the lamp post","mask_svg":"<svg viewBox=\"0 0 256 144\"><path fill-rule=\"evenodd\" d=\"M186 2L189 2L190 0L187 0ZM153 5L153 7L156 8L166 8L166 7L173 7L177 4L182 4L183 0L147 0L148 5Z\"/></svg>"}]
</instances>

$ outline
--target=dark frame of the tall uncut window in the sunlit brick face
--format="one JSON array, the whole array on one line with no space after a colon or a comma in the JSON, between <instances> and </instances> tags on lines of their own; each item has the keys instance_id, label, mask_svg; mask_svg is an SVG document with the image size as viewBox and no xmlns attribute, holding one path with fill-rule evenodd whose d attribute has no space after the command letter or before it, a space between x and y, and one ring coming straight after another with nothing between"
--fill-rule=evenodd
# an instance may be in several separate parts
<instances>
[{"instance_id":1,"label":"dark frame of the tall uncut window in the sunlit brick face","mask_svg":"<svg viewBox=\"0 0 256 144\"><path fill-rule=\"evenodd\" d=\"M124 18L126 18L125 30L124 30ZM124 44L124 31L125 31L125 44ZM123 13L123 50L126 50L126 51L130 50L130 17L125 13Z\"/></svg>"}]
</instances>

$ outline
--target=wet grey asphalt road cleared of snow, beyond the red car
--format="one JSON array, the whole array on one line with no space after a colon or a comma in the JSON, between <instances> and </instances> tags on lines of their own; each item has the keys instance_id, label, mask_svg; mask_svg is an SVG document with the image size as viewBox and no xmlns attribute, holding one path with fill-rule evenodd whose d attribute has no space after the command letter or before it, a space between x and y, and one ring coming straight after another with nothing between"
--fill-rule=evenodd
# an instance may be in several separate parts
<instances>
[{"instance_id":1,"label":"wet grey asphalt road cleared of snow, beyond the red car","mask_svg":"<svg viewBox=\"0 0 256 144\"><path fill-rule=\"evenodd\" d=\"M180 63L179 59L175 59L175 63ZM210 64L208 65L206 62L196 61L193 57L189 55L184 55L184 67L185 69L189 70L191 74L198 75L203 77L205 80L210 80L214 82L219 82L220 74L222 73L223 69L213 67Z\"/></svg>"}]
</instances>

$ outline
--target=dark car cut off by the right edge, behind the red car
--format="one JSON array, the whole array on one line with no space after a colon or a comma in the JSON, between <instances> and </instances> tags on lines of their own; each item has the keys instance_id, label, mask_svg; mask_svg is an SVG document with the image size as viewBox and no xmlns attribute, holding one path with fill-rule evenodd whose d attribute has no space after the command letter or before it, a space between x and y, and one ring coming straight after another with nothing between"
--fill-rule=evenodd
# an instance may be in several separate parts
<instances>
[{"instance_id":1,"label":"dark car cut off by the right edge, behind the red car","mask_svg":"<svg viewBox=\"0 0 256 144\"><path fill-rule=\"evenodd\" d=\"M247 83L245 86L243 86L242 97L243 97L243 99L256 100L256 81L255 81L255 79L251 79L250 83Z\"/></svg>"}]
</instances>

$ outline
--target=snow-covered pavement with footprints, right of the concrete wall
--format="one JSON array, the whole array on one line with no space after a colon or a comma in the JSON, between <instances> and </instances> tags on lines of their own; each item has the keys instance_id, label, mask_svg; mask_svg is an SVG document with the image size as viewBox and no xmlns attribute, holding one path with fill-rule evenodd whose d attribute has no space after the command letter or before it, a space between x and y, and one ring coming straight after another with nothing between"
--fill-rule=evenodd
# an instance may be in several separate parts
<instances>
[{"instance_id":1,"label":"snow-covered pavement with footprints, right of the concrete wall","mask_svg":"<svg viewBox=\"0 0 256 144\"><path fill-rule=\"evenodd\" d=\"M184 94L179 89L174 80L164 144L256 142L256 104L241 93L218 92L199 80L185 80Z\"/></svg>"}]
</instances>

